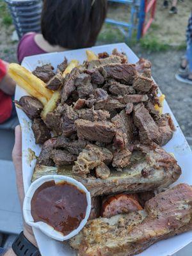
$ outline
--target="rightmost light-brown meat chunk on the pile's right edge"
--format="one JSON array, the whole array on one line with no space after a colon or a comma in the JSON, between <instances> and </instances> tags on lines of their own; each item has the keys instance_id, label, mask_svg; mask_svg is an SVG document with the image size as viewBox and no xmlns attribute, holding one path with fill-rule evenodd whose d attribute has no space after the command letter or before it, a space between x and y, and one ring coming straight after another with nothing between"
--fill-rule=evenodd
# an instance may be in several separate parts
<instances>
[{"instance_id":1,"label":"rightmost light-brown meat chunk on the pile's right edge","mask_svg":"<svg viewBox=\"0 0 192 256\"><path fill-rule=\"evenodd\" d=\"M166 145L173 137L173 131L175 131L175 126L172 121L170 114L161 115L159 120L157 120L157 125L159 127L160 136L158 138L158 144L161 146Z\"/></svg>"}]
</instances>

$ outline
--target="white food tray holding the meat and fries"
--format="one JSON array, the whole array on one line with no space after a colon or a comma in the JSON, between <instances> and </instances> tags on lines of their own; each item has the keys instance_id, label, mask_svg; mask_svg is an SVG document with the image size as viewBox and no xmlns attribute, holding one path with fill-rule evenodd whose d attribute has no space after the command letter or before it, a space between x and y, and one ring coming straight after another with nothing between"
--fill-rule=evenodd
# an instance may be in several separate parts
<instances>
[{"instance_id":1,"label":"white food tray holding the meat and fries","mask_svg":"<svg viewBox=\"0 0 192 256\"><path fill-rule=\"evenodd\" d=\"M136 61L138 61L138 57L134 54L134 52L131 51L131 49L126 44L102 45L92 47L91 49L95 53L103 51L111 53L114 48L118 49L118 51L125 52L128 56L129 62L136 63ZM36 56L26 57L22 61L22 66L32 71L38 65L51 63L51 65L56 68L58 63L61 63L61 61L63 61L64 56L68 59L68 61L76 59L79 60L80 63L83 63L83 61L86 60L85 50L86 49L65 52L52 52L49 54L40 54ZM15 99L19 100L20 97L26 94L27 93L24 90L17 86L15 92ZM180 167L182 168L182 175L180 176L179 180L175 182L175 184L186 182L192 185L192 152L166 100L164 102L163 112L170 113L172 115L175 127L177 127L177 130L173 134L172 140L170 140L164 147L167 152L172 152L174 154ZM22 127L22 172L24 180L24 190L26 193L31 184L31 176L33 174L33 168L35 166L35 160L29 161L29 158L31 158L29 157L30 148L35 152L36 156L38 156L40 153L40 146L35 144L35 138L33 136L33 131L31 130L31 120L29 120L28 116L26 116L24 112L19 108L17 108L17 115L19 117L19 122ZM68 243L60 243L58 241L55 241L50 237L42 234L42 232L40 232L40 230L37 230L36 228L33 228L33 232L35 234L36 242L42 256L76 255L74 250L72 250L70 246L68 246ZM169 256L189 244L191 241L192 231L180 234L179 236L175 236L164 241L160 241L150 246L150 248L145 250L143 253L140 253L140 255Z\"/></svg>"}]
</instances>

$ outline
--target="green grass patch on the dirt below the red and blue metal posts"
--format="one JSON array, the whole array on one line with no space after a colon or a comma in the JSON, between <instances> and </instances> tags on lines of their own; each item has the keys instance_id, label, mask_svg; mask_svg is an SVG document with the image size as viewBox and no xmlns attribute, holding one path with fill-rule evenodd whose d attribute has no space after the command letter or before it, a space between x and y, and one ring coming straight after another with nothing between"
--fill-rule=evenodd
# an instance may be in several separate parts
<instances>
[{"instance_id":1,"label":"green grass patch on the dirt below the red and blue metal posts","mask_svg":"<svg viewBox=\"0 0 192 256\"><path fill-rule=\"evenodd\" d=\"M160 42L154 35L146 35L140 40L141 48L150 52L166 51L169 45Z\"/></svg>"}]
</instances>

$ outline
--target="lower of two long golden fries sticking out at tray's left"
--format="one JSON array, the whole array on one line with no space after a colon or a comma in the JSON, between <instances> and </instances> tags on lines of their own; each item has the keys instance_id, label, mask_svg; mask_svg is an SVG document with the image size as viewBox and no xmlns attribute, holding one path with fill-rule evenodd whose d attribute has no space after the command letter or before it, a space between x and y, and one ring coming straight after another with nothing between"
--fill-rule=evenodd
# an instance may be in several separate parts
<instances>
[{"instance_id":1,"label":"lower of two long golden fries sticking out at tray's left","mask_svg":"<svg viewBox=\"0 0 192 256\"><path fill-rule=\"evenodd\" d=\"M26 90L26 92L29 93L29 95L35 97L36 99L40 100L40 102L42 102L42 104L45 106L47 104L47 99L41 95L40 93L36 92L36 90L31 87L31 85L25 81L22 77L18 76L15 72L13 72L12 70L9 70L9 75L10 77L12 77L12 79L24 90Z\"/></svg>"}]
</instances>

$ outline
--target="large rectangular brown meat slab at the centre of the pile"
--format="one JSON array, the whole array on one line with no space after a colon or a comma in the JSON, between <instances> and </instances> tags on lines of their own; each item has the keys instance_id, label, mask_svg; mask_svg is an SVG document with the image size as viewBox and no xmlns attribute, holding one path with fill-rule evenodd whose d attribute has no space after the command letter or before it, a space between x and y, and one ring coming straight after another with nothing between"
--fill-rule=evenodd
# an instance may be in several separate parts
<instances>
[{"instance_id":1,"label":"large rectangular brown meat slab at the centre of the pile","mask_svg":"<svg viewBox=\"0 0 192 256\"><path fill-rule=\"evenodd\" d=\"M77 136L82 140L109 143L115 136L115 127L108 121L91 122L78 119L75 125Z\"/></svg>"}]
</instances>

